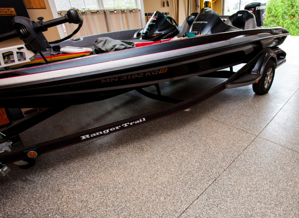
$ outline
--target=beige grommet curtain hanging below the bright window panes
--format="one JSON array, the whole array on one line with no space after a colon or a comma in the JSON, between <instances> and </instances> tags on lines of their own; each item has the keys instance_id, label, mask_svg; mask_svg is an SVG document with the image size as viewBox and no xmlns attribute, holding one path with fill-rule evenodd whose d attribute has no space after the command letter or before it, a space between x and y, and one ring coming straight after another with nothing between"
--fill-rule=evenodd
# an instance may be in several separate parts
<instances>
[{"instance_id":1,"label":"beige grommet curtain hanging below the bright window panes","mask_svg":"<svg viewBox=\"0 0 299 218\"><path fill-rule=\"evenodd\" d=\"M62 15L67 11L61 11ZM86 10L81 11L83 26L73 37L88 36L97 33L106 33L119 30L143 28L141 24L140 11L136 9L116 10ZM67 35L71 34L78 24L65 23Z\"/></svg>"}]
</instances>

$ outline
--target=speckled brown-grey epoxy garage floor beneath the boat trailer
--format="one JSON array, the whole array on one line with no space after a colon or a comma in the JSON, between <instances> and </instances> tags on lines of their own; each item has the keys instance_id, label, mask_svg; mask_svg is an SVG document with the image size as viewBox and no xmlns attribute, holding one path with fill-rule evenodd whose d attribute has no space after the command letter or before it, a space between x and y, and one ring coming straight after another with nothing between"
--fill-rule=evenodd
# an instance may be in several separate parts
<instances>
[{"instance_id":1,"label":"speckled brown-grey epoxy garage floor beneath the boat trailer","mask_svg":"<svg viewBox=\"0 0 299 218\"><path fill-rule=\"evenodd\" d=\"M264 96L226 89L187 111L38 156L28 170L10 164L0 217L298 217L298 38L281 46L287 63ZM219 81L189 78L162 93L188 98ZM131 92L72 106L21 136L31 145L166 106Z\"/></svg>"}]
</instances>

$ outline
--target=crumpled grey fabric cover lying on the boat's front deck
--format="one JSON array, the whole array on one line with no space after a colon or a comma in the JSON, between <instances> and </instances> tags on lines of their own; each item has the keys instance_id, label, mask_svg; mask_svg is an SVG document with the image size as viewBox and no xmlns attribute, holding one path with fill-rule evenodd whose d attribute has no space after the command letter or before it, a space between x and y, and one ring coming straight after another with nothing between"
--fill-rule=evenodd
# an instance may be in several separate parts
<instances>
[{"instance_id":1,"label":"crumpled grey fabric cover lying on the boat's front deck","mask_svg":"<svg viewBox=\"0 0 299 218\"><path fill-rule=\"evenodd\" d=\"M103 53L109 51L123 50L126 48L135 48L134 42L111 39L109 37L97 38L94 42L94 53Z\"/></svg>"}]
</instances>

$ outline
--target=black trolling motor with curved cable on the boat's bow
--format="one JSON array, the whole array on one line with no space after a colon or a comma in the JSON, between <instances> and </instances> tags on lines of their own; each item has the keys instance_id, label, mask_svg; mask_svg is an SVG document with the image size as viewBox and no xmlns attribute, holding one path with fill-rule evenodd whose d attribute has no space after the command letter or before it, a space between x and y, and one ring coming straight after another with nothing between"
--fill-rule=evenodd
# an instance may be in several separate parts
<instances>
[{"instance_id":1,"label":"black trolling motor with curved cable on the boat's bow","mask_svg":"<svg viewBox=\"0 0 299 218\"><path fill-rule=\"evenodd\" d=\"M79 31L83 23L82 15L80 14L80 11L78 9L70 9L65 14L65 16L45 22L43 21L43 17L39 17L37 19L39 21L34 22L33 20L26 17L15 16L13 18L13 25L15 27L15 30L1 34L0 42L7 39L20 37L20 39L24 41L25 47L28 50L31 50L33 53L46 51L47 48L51 47L50 44L62 42L66 39L71 38L71 36ZM55 42L48 42L42 32L47 31L49 27L54 27L67 22L79 24L79 26L71 35Z\"/></svg>"}]
</instances>

